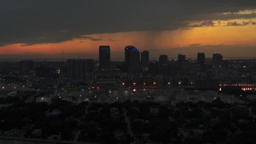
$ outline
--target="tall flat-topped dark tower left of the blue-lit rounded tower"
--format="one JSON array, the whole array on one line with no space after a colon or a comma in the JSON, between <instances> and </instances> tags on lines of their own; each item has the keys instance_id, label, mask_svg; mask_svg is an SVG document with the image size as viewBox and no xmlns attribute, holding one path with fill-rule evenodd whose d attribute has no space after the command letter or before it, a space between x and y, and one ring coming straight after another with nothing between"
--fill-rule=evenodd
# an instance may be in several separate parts
<instances>
[{"instance_id":1,"label":"tall flat-topped dark tower left of the blue-lit rounded tower","mask_svg":"<svg viewBox=\"0 0 256 144\"><path fill-rule=\"evenodd\" d=\"M110 46L99 46L99 67L110 69Z\"/></svg>"}]
</instances>

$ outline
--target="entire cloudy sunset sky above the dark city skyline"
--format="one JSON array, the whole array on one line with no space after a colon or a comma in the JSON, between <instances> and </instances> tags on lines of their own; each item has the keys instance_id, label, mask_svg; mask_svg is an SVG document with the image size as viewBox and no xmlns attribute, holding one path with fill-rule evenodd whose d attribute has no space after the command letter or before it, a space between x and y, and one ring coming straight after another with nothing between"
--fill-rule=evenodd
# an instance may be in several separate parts
<instances>
[{"instance_id":1,"label":"entire cloudy sunset sky above the dark city skyline","mask_svg":"<svg viewBox=\"0 0 256 144\"><path fill-rule=\"evenodd\" d=\"M256 57L255 0L1 0L0 58Z\"/></svg>"}]
</instances>

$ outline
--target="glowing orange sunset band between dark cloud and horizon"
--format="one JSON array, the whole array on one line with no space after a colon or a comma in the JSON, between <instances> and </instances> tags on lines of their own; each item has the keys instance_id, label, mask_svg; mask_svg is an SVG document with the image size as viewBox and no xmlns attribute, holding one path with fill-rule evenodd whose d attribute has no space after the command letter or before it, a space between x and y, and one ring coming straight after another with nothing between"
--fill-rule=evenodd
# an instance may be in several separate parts
<instances>
[{"instance_id":1,"label":"glowing orange sunset band between dark cloud and horizon","mask_svg":"<svg viewBox=\"0 0 256 144\"><path fill-rule=\"evenodd\" d=\"M242 20L240 20L242 21ZM110 45L111 51L123 52L126 45L134 45L139 50L172 49L198 44L207 45L244 45L256 46L256 25L250 26L213 26L194 27L191 30L166 30L160 32L120 32L113 34L92 34L101 41L77 38L59 43L22 46L17 43L0 48L0 55L11 54L60 54L88 53L98 54L98 46Z\"/></svg>"}]
</instances>

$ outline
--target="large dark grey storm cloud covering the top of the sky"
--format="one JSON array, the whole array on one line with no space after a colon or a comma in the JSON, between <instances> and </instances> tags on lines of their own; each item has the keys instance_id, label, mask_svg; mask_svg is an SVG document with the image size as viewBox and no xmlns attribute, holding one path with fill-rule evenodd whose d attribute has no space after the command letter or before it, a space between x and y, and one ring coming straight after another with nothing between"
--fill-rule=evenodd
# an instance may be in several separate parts
<instances>
[{"instance_id":1,"label":"large dark grey storm cloud covering the top of the sky","mask_svg":"<svg viewBox=\"0 0 256 144\"><path fill-rule=\"evenodd\" d=\"M88 34L174 30L190 21L255 18L255 14L235 14L255 8L254 0L1 0L0 46L56 43Z\"/></svg>"}]
</instances>

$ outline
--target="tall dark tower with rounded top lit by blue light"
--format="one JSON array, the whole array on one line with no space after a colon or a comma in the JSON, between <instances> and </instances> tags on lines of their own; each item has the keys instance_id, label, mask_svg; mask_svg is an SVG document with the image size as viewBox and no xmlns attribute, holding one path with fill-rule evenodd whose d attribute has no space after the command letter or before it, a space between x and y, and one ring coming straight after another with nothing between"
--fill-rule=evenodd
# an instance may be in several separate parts
<instances>
[{"instance_id":1,"label":"tall dark tower with rounded top lit by blue light","mask_svg":"<svg viewBox=\"0 0 256 144\"><path fill-rule=\"evenodd\" d=\"M136 47L125 47L125 67L128 72L140 71L140 54Z\"/></svg>"}]
</instances>

